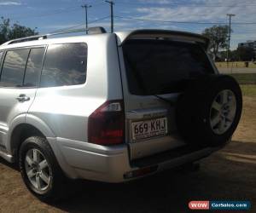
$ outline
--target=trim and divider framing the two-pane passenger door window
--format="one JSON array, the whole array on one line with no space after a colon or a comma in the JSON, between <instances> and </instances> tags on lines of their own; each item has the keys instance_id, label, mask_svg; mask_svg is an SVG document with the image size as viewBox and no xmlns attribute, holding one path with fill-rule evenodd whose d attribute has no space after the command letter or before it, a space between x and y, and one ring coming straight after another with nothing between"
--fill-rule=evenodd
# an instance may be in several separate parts
<instances>
[{"instance_id":1,"label":"trim and divider framing the two-pane passenger door window","mask_svg":"<svg viewBox=\"0 0 256 213\"><path fill-rule=\"evenodd\" d=\"M35 86L35 87L24 87L23 84L24 84L24 79L25 79L25 74L26 74L26 66L25 66L25 70L24 70L24 75L23 75L23 80L22 80L22 86L21 87L6 87L6 86L1 86L0 85L0 88L6 88L6 89L37 89L39 88L40 86L40 79L41 79L41 74L42 74L42 70L43 70L43 66L44 66L44 57L45 57L45 53L46 53L46 49L47 49L47 46L48 45L35 45L35 46L26 46L26 47L20 47L20 48L12 48L12 49L3 49L3 58L2 60L0 61L1 63L1 66L0 66L0 83L1 83L1 79L2 79L2 73L3 73L3 63L5 61L5 58L6 58L6 55L7 55L7 52L8 51L14 51L14 50L20 50L20 49L29 49L29 52L28 52L28 55L27 55L27 58L26 58L26 66L27 66L27 61L28 61L28 58L30 56L30 53L31 53L31 49L38 49L38 48L44 48L44 55L43 55L43 60L42 60L42 63L41 63L41 68L39 70L39 77L38 77L38 85ZM0 50L1 51L1 50Z\"/></svg>"}]
</instances>

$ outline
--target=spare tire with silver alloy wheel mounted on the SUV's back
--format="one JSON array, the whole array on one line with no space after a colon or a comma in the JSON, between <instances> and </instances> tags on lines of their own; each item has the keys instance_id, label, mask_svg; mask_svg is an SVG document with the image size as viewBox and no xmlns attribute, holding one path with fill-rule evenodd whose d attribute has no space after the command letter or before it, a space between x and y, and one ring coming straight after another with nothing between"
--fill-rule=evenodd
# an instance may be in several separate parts
<instances>
[{"instance_id":1,"label":"spare tire with silver alloy wheel mounted on the SUV's back","mask_svg":"<svg viewBox=\"0 0 256 213\"><path fill-rule=\"evenodd\" d=\"M241 108L241 89L234 78L210 75L191 80L177 100L177 130L189 144L224 145L236 130Z\"/></svg>"}]
</instances>

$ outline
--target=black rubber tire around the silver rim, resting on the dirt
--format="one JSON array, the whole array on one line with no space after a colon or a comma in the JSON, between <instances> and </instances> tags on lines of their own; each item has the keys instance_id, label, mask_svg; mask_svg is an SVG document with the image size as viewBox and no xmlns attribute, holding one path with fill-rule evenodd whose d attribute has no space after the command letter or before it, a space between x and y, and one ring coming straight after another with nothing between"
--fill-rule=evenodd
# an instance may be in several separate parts
<instances>
[{"instance_id":1,"label":"black rubber tire around the silver rim, resting on the dirt","mask_svg":"<svg viewBox=\"0 0 256 213\"><path fill-rule=\"evenodd\" d=\"M34 187L26 173L26 153L32 149L38 150L40 153L42 153L49 165L49 187L47 187L44 191L38 190L37 187ZM21 144L19 152L19 166L20 173L26 187L38 199L50 203L62 198L63 185L66 178L55 159L55 155L51 147L49 147L48 141L44 137L32 136L27 138L26 141Z\"/></svg>"}]
</instances>

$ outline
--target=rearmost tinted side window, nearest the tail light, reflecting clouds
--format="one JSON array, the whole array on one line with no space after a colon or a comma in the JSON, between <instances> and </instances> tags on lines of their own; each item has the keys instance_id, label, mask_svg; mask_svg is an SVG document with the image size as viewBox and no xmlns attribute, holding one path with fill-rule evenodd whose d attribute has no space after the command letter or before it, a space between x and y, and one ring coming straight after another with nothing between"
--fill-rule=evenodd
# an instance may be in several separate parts
<instances>
[{"instance_id":1,"label":"rearmost tinted side window, nearest the tail light, reflecting clouds","mask_svg":"<svg viewBox=\"0 0 256 213\"><path fill-rule=\"evenodd\" d=\"M85 43L51 44L44 59L41 87L82 84L86 78L86 66Z\"/></svg>"}]
</instances>

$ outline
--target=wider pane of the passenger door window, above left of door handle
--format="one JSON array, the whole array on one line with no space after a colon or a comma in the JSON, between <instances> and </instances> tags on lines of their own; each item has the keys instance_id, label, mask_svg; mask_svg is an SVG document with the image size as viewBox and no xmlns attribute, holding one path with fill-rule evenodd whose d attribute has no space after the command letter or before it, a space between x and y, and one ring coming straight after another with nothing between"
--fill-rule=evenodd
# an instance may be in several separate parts
<instances>
[{"instance_id":1,"label":"wider pane of the passenger door window, above left of door handle","mask_svg":"<svg viewBox=\"0 0 256 213\"><path fill-rule=\"evenodd\" d=\"M0 85L5 87L20 87L26 67L29 49L9 50L3 61Z\"/></svg>"}]
</instances>

